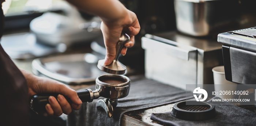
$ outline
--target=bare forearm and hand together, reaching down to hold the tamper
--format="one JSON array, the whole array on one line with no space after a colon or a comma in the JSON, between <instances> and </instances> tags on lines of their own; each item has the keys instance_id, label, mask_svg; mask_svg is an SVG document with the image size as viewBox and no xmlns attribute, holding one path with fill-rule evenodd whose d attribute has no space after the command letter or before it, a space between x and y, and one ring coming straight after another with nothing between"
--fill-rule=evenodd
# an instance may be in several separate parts
<instances>
[{"instance_id":1,"label":"bare forearm and hand together, reaching down to hold the tamper","mask_svg":"<svg viewBox=\"0 0 256 126\"><path fill-rule=\"evenodd\" d=\"M106 46L104 65L109 65L116 56L116 44L121 32L127 33L131 41L124 44L121 54L127 47L134 45L134 36L139 33L140 25L135 13L129 11L119 0L67 0L79 10L97 15L101 18L101 31Z\"/></svg>"}]
</instances>

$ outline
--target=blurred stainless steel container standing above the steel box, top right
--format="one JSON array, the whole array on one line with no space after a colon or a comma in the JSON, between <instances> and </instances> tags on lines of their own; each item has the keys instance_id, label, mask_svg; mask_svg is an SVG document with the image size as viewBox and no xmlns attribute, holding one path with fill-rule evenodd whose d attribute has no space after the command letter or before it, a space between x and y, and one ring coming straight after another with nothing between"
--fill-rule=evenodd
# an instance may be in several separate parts
<instances>
[{"instance_id":1,"label":"blurred stainless steel container standing above the steel box, top right","mask_svg":"<svg viewBox=\"0 0 256 126\"><path fill-rule=\"evenodd\" d=\"M255 9L246 7L249 4L248 0L174 0L177 29L191 36L217 36L253 27L255 15L252 19L248 13Z\"/></svg>"}]
</instances>

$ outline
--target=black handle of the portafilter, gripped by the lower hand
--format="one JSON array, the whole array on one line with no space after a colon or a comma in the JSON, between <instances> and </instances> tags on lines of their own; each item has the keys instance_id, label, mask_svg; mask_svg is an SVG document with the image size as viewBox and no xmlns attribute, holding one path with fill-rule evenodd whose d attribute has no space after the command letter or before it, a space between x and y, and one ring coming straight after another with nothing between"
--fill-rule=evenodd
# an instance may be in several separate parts
<instances>
[{"instance_id":1,"label":"black handle of the portafilter, gripped by the lower hand","mask_svg":"<svg viewBox=\"0 0 256 126\"><path fill-rule=\"evenodd\" d=\"M91 97L92 91L90 89L86 89L83 91L78 91L78 97L81 99L82 102L92 102L93 98ZM33 95L30 98L30 108L34 110L35 112L45 112L45 105L49 103L49 97L53 96L57 99L57 96L59 94L57 93L45 93L45 94L38 94ZM72 101L70 98L64 96L65 99L67 99L68 103L71 104Z\"/></svg>"}]
</instances>

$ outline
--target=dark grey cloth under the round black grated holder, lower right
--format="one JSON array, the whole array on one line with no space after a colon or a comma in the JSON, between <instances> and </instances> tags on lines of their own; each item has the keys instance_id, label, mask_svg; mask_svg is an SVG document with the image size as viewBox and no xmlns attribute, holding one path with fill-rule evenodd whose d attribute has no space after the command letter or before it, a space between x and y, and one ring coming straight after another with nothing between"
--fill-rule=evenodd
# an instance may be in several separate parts
<instances>
[{"instance_id":1,"label":"dark grey cloth under the round black grated holder, lower right","mask_svg":"<svg viewBox=\"0 0 256 126\"><path fill-rule=\"evenodd\" d=\"M221 99L214 97L212 99ZM170 126L255 126L256 113L229 102L207 101L215 106L216 117L202 121L187 121L174 117L171 112L153 113L151 119Z\"/></svg>"}]
</instances>

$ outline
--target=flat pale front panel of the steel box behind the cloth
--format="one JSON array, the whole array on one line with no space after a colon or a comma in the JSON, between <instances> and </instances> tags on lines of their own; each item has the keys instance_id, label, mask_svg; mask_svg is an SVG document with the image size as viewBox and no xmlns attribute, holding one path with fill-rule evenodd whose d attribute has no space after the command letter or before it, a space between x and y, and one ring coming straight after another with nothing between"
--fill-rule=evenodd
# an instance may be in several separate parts
<instances>
[{"instance_id":1,"label":"flat pale front panel of the steel box behind the cloth","mask_svg":"<svg viewBox=\"0 0 256 126\"><path fill-rule=\"evenodd\" d=\"M181 89L186 89L186 84L196 85L196 48L185 49L146 37L142 38L142 47L146 49L145 73L147 78Z\"/></svg>"}]
</instances>

